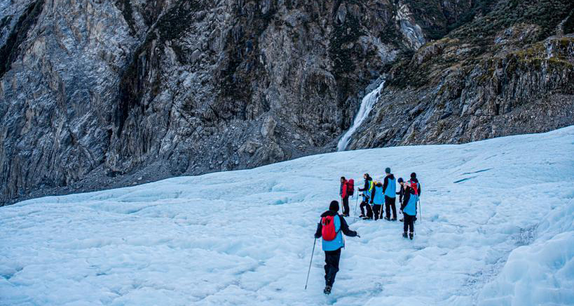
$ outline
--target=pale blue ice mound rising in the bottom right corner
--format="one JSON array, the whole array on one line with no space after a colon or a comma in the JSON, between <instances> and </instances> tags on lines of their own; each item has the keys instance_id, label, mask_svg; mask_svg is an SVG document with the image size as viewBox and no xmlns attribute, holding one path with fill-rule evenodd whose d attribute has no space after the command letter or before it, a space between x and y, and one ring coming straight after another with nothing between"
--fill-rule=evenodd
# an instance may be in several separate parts
<instances>
[{"instance_id":1,"label":"pale blue ice mound rising in the bottom right corner","mask_svg":"<svg viewBox=\"0 0 574 306\"><path fill-rule=\"evenodd\" d=\"M555 208L537 229L537 239L514 249L498 277L479 295L487 305L573 305L574 205Z\"/></svg>"}]
</instances>

